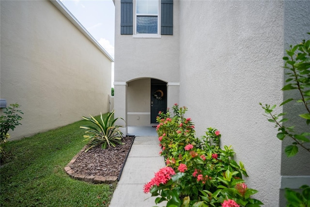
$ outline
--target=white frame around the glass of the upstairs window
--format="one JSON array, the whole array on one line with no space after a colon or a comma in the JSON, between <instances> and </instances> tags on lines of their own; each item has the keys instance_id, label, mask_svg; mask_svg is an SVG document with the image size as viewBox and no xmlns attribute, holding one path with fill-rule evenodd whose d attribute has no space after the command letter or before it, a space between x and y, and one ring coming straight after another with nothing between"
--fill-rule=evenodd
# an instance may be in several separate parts
<instances>
[{"instance_id":1,"label":"white frame around the glass of the upstairs window","mask_svg":"<svg viewBox=\"0 0 310 207\"><path fill-rule=\"evenodd\" d=\"M158 14L157 14L157 34L141 34L137 33L137 1L133 0L134 6L133 6L133 14L134 14L134 24L133 24L133 38L161 38L160 35L160 14L161 14L161 0L158 0ZM143 16L143 14L140 14ZM152 16L147 14L147 16ZM155 15L154 15L155 16Z\"/></svg>"}]
</instances>

